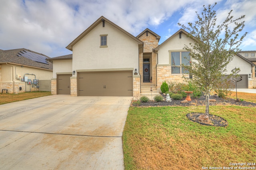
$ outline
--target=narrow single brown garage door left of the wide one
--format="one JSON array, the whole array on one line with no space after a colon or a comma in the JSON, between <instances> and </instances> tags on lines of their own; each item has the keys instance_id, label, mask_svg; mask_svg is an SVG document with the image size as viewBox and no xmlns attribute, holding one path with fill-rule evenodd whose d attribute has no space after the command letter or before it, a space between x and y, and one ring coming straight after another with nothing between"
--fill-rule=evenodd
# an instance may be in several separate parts
<instances>
[{"instance_id":1,"label":"narrow single brown garage door left of the wide one","mask_svg":"<svg viewBox=\"0 0 256 170\"><path fill-rule=\"evenodd\" d=\"M70 94L70 77L72 74L57 75L57 94Z\"/></svg>"}]
</instances>

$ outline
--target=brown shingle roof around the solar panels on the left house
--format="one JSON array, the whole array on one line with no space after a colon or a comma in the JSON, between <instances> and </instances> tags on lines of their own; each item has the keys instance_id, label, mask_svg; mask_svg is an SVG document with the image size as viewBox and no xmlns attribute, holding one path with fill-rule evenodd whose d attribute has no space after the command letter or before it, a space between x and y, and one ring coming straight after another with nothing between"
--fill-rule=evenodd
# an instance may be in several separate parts
<instances>
[{"instance_id":1,"label":"brown shingle roof around the solar panels on the left house","mask_svg":"<svg viewBox=\"0 0 256 170\"><path fill-rule=\"evenodd\" d=\"M45 63L39 63L39 62L33 61L26 57L20 56L19 53L21 53L21 51L29 51L31 53L42 55L47 59L50 59L50 57L46 55L22 48L22 49L0 50L0 63L16 63L16 64L22 64L26 66L33 66L33 67L52 70L52 62L48 61L48 64L45 64Z\"/></svg>"}]
</instances>

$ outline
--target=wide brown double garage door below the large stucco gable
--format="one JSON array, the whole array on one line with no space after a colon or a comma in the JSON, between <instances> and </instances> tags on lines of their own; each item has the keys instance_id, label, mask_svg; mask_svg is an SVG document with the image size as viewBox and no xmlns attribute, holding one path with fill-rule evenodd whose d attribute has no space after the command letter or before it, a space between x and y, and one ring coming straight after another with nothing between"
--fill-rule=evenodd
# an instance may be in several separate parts
<instances>
[{"instance_id":1,"label":"wide brown double garage door below the large stucco gable","mask_svg":"<svg viewBox=\"0 0 256 170\"><path fill-rule=\"evenodd\" d=\"M132 71L80 72L79 96L132 96Z\"/></svg>"}]
</instances>

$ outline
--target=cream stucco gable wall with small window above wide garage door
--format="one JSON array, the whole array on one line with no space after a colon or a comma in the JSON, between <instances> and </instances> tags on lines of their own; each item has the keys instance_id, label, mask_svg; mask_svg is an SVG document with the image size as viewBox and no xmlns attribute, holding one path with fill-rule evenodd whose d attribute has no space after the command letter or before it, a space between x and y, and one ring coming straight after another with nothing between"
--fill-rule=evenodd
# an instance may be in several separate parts
<instances>
[{"instance_id":1,"label":"cream stucco gable wall with small window above wide garage door","mask_svg":"<svg viewBox=\"0 0 256 170\"><path fill-rule=\"evenodd\" d=\"M106 34L108 47L100 47L100 35ZM138 42L109 23L100 23L73 46L72 68L138 69Z\"/></svg>"}]
</instances>

